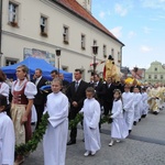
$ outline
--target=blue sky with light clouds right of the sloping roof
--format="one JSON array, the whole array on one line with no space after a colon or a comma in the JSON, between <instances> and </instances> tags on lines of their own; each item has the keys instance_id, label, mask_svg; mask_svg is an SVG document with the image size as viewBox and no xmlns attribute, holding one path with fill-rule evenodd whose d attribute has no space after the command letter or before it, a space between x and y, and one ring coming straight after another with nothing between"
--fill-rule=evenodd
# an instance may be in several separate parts
<instances>
[{"instance_id":1,"label":"blue sky with light clouds right of the sloping roof","mask_svg":"<svg viewBox=\"0 0 165 165\"><path fill-rule=\"evenodd\" d=\"M165 0L92 0L92 15L122 43L123 66L165 64Z\"/></svg>"}]
</instances>

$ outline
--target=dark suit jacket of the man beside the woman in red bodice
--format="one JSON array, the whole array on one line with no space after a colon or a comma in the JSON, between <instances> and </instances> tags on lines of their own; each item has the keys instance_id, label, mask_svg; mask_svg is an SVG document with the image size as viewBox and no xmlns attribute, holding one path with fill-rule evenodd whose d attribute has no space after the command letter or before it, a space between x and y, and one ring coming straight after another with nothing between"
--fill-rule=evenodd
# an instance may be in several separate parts
<instances>
[{"instance_id":1,"label":"dark suit jacket of the man beside the woman in red bodice","mask_svg":"<svg viewBox=\"0 0 165 165\"><path fill-rule=\"evenodd\" d=\"M36 79L33 80L33 82L35 84ZM46 79L45 78L41 78L40 81L37 82L36 85L36 89L37 89L37 94L35 96L35 99L34 99L34 105L44 105L46 102L46 94L42 92L40 90L40 88L42 86L45 86L46 85Z\"/></svg>"}]
</instances>

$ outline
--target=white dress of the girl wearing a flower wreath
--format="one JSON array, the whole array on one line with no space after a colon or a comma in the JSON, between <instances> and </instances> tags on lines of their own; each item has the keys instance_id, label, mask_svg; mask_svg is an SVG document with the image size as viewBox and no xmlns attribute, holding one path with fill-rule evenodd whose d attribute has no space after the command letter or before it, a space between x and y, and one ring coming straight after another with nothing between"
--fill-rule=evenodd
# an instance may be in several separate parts
<instances>
[{"instance_id":1,"label":"white dress of the girl wearing a flower wreath","mask_svg":"<svg viewBox=\"0 0 165 165\"><path fill-rule=\"evenodd\" d=\"M123 118L123 109L121 100L113 101L112 116L113 122L111 124L112 139L125 139L129 135L128 125Z\"/></svg>"}]
</instances>

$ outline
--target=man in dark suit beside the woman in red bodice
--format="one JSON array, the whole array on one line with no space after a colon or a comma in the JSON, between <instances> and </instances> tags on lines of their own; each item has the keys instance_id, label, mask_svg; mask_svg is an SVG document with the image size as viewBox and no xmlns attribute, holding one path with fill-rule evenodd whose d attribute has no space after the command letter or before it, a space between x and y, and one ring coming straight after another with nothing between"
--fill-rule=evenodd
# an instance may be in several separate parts
<instances>
[{"instance_id":1,"label":"man in dark suit beside the woman in red bodice","mask_svg":"<svg viewBox=\"0 0 165 165\"><path fill-rule=\"evenodd\" d=\"M42 69L36 68L35 69L35 79L33 80L33 82L36 85L36 88L37 88L37 94L36 94L35 99L34 99L34 107L35 107L35 110L37 113L36 129L38 128L38 124L41 122L43 111L44 111L44 106L46 102L46 95L44 92L42 92L40 90L40 88L42 86L45 86L46 81L47 80L42 77Z\"/></svg>"}]
</instances>

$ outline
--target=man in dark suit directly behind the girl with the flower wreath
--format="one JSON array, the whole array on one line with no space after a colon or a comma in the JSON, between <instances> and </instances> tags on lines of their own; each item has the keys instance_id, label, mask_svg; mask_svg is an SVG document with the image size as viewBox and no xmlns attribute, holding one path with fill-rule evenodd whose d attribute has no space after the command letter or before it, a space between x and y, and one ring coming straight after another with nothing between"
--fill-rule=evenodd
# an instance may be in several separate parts
<instances>
[{"instance_id":1,"label":"man in dark suit directly behind the girl with the flower wreath","mask_svg":"<svg viewBox=\"0 0 165 165\"><path fill-rule=\"evenodd\" d=\"M103 114L105 116L108 116L109 112L111 112L112 110L114 89L116 89L116 86L112 84L112 78L108 77L105 84L105 95L103 95L103 109L105 109Z\"/></svg>"}]
</instances>

